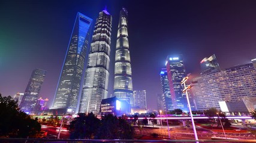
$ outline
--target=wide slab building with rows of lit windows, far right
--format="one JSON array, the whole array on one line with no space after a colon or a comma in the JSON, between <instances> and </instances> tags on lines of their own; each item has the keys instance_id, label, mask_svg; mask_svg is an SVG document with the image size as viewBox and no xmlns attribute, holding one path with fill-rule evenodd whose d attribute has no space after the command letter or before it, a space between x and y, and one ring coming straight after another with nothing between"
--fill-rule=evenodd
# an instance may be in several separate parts
<instances>
[{"instance_id":1,"label":"wide slab building with rows of lit windows, far right","mask_svg":"<svg viewBox=\"0 0 256 143\"><path fill-rule=\"evenodd\" d=\"M232 111L246 111L246 99L256 98L256 70L252 63L202 74L192 82L194 86L191 89L198 110L211 107L221 110L219 101L225 101Z\"/></svg>"}]
</instances>

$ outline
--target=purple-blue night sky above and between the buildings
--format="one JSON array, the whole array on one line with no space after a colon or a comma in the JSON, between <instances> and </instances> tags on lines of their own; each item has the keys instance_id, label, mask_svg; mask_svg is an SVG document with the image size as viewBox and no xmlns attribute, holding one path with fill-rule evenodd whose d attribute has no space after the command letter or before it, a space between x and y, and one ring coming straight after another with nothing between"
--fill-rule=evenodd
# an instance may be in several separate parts
<instances>
[{"instance_id":1,"label":"purple-blue night sky above and between the buildings","mask_svg":"<svg viewBox=\"0 0 256 143\"><path fill-rule=\"evenodd\" d=\"M40 97L52 102L77 12L113 16L109 94L113 94L119 11L128 10L134 90L156 108L159 73L168 54L183 54L187 73L215 54L221 69L256 58L256 1L0 1L0 92L24 92L32 70L48 73Z\"/></svg>"}]
</instances>

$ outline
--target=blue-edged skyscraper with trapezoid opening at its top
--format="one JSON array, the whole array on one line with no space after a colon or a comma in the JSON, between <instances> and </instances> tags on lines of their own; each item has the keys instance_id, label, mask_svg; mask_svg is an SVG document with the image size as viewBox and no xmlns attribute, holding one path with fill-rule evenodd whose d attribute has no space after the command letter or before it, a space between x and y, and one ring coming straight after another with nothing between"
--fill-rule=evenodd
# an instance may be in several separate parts
<instances>
[{"instance_id":1,"label":"blue-edged skyscraper with trapezoid opening at its top","mask_svg":"<svg viewBox=\"0 0 256 143\"><path fill-rule=\"evenodd\" d=\"M77 111L90 47L91 27L92 19L77 13L52 109L62 108L65 113Z\"/></svg>"}]
</instances>

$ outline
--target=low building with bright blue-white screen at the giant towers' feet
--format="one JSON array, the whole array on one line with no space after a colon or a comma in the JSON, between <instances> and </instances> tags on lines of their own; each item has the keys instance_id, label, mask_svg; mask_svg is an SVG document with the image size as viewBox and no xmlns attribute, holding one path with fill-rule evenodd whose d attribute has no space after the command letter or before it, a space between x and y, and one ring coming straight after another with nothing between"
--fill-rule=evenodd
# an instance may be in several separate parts
<instances>
[{"instance_id":1,"label":"low building with bright blue-white screen at the giant towers' feet","mask_svg":"<svg viewBox=\"0 0 256 143\"><path fill-rule=\"evenodd\" d=\"M122 116L123 114L131 113L131 106L127 101L112 97L101 101L100 112L101 115L113 114L114 116Z\"/></svg>"}]
</instances>

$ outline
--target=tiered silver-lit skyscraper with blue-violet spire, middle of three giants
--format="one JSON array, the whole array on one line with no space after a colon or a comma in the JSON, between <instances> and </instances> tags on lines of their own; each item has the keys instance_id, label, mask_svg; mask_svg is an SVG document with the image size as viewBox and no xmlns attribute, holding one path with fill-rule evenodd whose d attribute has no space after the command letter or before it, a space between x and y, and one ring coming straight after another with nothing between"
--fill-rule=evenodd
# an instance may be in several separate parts
<instances>
[{"instance_id":1,"label":"tiered silver-lit skyscraper with blue-violet spire, middle of three giants","mask_svg":"<svg viewBox=\"0 0 256 143\"><path fill-rule=\"evenodd\" d=\"M109 85L112 16L103 10L96 20L79 112L99 113L101 100L107 98Z\"/></svg>"}]
</instances>

